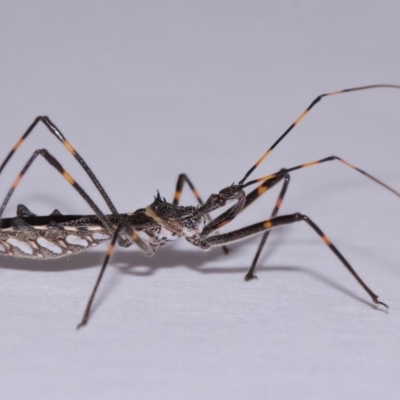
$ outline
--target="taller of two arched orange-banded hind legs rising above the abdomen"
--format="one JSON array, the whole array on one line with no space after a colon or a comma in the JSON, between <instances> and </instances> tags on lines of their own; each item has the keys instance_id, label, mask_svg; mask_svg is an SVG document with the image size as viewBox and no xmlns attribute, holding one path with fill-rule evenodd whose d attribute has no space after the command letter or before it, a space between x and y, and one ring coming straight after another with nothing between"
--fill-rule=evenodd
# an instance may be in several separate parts
<instances>
[{"instance_id":1,"label":"taller of two arched orange-banded hind legs rising above the abdomen","mask_svg":"<svg viewBox=\"0 0 400 400\"><path fill-rule=\"evenodd\" d=\"M94 175L93 171L89 168L89 166L86 164L86 162L83 160L83 158L80 156L80 154L72 147L72 145L68 142L68 140L64 137L64 135L61 133L61 131L53 124L53 122L50 121L49 117L46 116L38 116L36 119L32 122L32 124L29 126L29 128L26 130L26 132L22 135L22 137L18 140L18 142L14 145L14 147L11 149L5 160L0 166L0 174L7 165L7 163L10 161L11 157L15 154L15 152L18 150L18 148L21 146L21 144L25 141L25 139L29 136L29 134L33 131L33 129L36 127L36 125L42 122L46 128L52 133L63 145L64 147L68 150L69 153L72 154L72 156L79 162L79 164L82 166L83 170L87 173L89 176L90 180L93 182L101 196L103 197L104 201L106 202L108 208L111 210L113 214L118 214L117 209L115 208L114 204L112 203L110 197L104 190L103 186L100 184L96 176Z\"/></svg>"}]
</instances>

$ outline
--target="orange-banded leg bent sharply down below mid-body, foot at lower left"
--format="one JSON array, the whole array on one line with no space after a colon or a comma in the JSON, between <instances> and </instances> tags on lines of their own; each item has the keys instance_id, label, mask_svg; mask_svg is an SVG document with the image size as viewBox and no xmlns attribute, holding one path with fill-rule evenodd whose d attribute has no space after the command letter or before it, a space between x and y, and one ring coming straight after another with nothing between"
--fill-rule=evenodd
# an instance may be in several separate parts
<instances>
[{"instance_id":1,"label":"orange-banded leg bent sharply down below mid-body, foot at lower left","mask_svg":"<svg viewBox=\"0 0 400 400\"><path fill-rule=\"evenodd\" d=\"M111 240L110 245L108 246L108 250L107 250L107 254L104 258L103 261L103 265L101 267L100 273L96 279L96 283L94 284L94 287L92 289L92 292L90 294L89 300L86 304L86 308L85 308L85 312L83 313L83 317L81 322L78 324L78 326L76 327L76 329L82 328L82 326L85 326L89 320L89 316L90 316L90 310L92 308L93 305L93 301L94 298L96 296L97 293L97 289L100 286L100 282L101 279L103 278L104 272L106 270L106 267L108 265L108 262L111 258L111 255L114 252L114 248L115 248L115 242L117 240L117 238L119 237L120 234L124 233L123 231L125 231L125 233L127 233L129 235L129 246L132 245L132 243L137 244L147 255L152 255L154 253L153 250L150 249L150 247L148 245L146 245L146 243L144 243L139 235L132 229L132 227L129 224L126 224L124 222L121 222L120 224L118 224L114 234L113 234L113 238ZM127 246L127 247L129 247Z\"/></svg>"}]
</instances>

